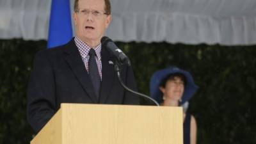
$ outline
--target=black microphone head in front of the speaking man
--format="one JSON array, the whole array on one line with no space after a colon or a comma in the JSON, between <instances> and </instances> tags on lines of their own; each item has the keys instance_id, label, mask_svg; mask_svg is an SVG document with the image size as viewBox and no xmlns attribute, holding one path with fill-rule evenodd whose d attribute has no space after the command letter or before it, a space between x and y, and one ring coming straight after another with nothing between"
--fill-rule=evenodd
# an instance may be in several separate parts
<instances>
[{"instance_id":1,"label":"black microphone head in front of the speaking man","mask_svg":"<svg viewBox=\"0 0 256 144\"><path fill-rule=\"evenodd\" d=\"M124 52L121 51L121 49L119 49L115 45L113 40L111 40L107 36L103 36L100 41L101 44L104 45L108 49L108 51L115 56L116 60L118 60L119 63L131 66L131 61L129 60L129 58L124 54Z\"/></svg>"}]
</instances>

